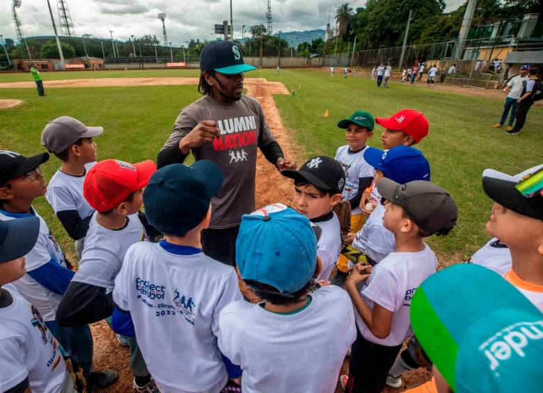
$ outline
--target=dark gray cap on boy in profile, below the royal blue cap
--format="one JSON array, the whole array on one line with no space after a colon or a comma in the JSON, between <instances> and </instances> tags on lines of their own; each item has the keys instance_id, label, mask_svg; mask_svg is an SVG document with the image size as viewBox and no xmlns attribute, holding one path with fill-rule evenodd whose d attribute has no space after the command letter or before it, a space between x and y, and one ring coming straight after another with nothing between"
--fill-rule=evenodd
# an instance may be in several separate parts
<instances>
[{"instance_id":1,"label":"dark gray cap on boy in profile, below the royal blue cap","mask_svg":"<svg viewBox=\"0 0 543 393\"><path fill-rule=\"evenodd\" d=\"M406 184L384 177L377 184L381 196L404 208L428 236L456 225L458 209L450 194L435 183L415 180Z\"/></svg>"}]
</instances>

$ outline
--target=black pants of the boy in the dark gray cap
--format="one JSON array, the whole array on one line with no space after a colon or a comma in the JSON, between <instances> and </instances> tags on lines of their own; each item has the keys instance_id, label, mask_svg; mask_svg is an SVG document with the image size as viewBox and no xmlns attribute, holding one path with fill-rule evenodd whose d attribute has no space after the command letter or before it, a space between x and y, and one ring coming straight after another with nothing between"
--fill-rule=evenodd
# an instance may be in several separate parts
<instances>
[{"instance_id":1,"label":"black pants of the boy in the dark gray cap","mask_svg":"<svg viewBox=\"0 0 543 393\"><path fill-rule=\"evenodd\" d=\"M380 393L386 385L386 375L402 348L369 342L356 332L351 348L347 393Z\"/></svg>"}]
</instances>

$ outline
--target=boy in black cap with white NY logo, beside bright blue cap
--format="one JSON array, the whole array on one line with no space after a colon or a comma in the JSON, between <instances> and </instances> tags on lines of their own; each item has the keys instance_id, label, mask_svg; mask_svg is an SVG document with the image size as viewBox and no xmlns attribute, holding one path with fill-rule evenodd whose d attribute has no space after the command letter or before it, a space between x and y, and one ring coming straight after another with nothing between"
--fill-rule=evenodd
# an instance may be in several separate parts
<instances>
[{"instance_id":1,"label":"boy in black cap with white NY logo, beside bright blue cap","mask_svg":"<svg viewBox=\"0 0 543 393\"><path fill-rule=\"evenodd\" d=\"M292 207L322 230L317 255L322 260L318 280L328 280L341 251L338 216L332 211L342 198L345 170L326 156L309 159L299 170L283 170L281 175L294 179Z\"/></svg>"}]
</instances>

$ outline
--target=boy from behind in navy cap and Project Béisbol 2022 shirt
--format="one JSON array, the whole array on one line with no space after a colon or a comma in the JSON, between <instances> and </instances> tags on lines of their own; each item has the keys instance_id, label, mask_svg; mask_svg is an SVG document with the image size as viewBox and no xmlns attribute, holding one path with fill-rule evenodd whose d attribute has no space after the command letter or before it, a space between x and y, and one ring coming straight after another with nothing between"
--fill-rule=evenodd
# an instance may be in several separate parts
<instances>
[{"instance_id":1,"label":"boy from behind in navy cap and Project B\u00e9isbol 2022 shirt","mask_svg":"<svg viewBox=\"0 0 543 393\"><path fill-rule=\"evenodd\" d=\"M222 182L219 167L206 160L157 170L143 204L164 240L132 245L115 279L113 330L135 334L162 392L220 392L228 381L230 363L217 346L219 314L242 294L234 268L200 248Z\"/></svg>"}]
</instances>

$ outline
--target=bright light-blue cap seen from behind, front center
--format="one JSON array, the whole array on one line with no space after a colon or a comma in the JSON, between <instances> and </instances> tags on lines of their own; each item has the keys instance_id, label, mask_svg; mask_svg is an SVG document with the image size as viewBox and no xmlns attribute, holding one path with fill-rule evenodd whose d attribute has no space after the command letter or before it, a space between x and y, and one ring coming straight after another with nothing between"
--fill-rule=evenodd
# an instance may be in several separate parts
<instances>
[{"instance_id":1,"label":"bright light-blue cap seen from behind, front center","mask_svg":"<svg viewBox=\"0 0 543 393\"><path fill-rule=\"evenodd\" d=\"M306 216L285 204L270 204L242 216L236 262L243 280L292 294L313 278L317 235Z\"/></svg>"}]
</instances>

